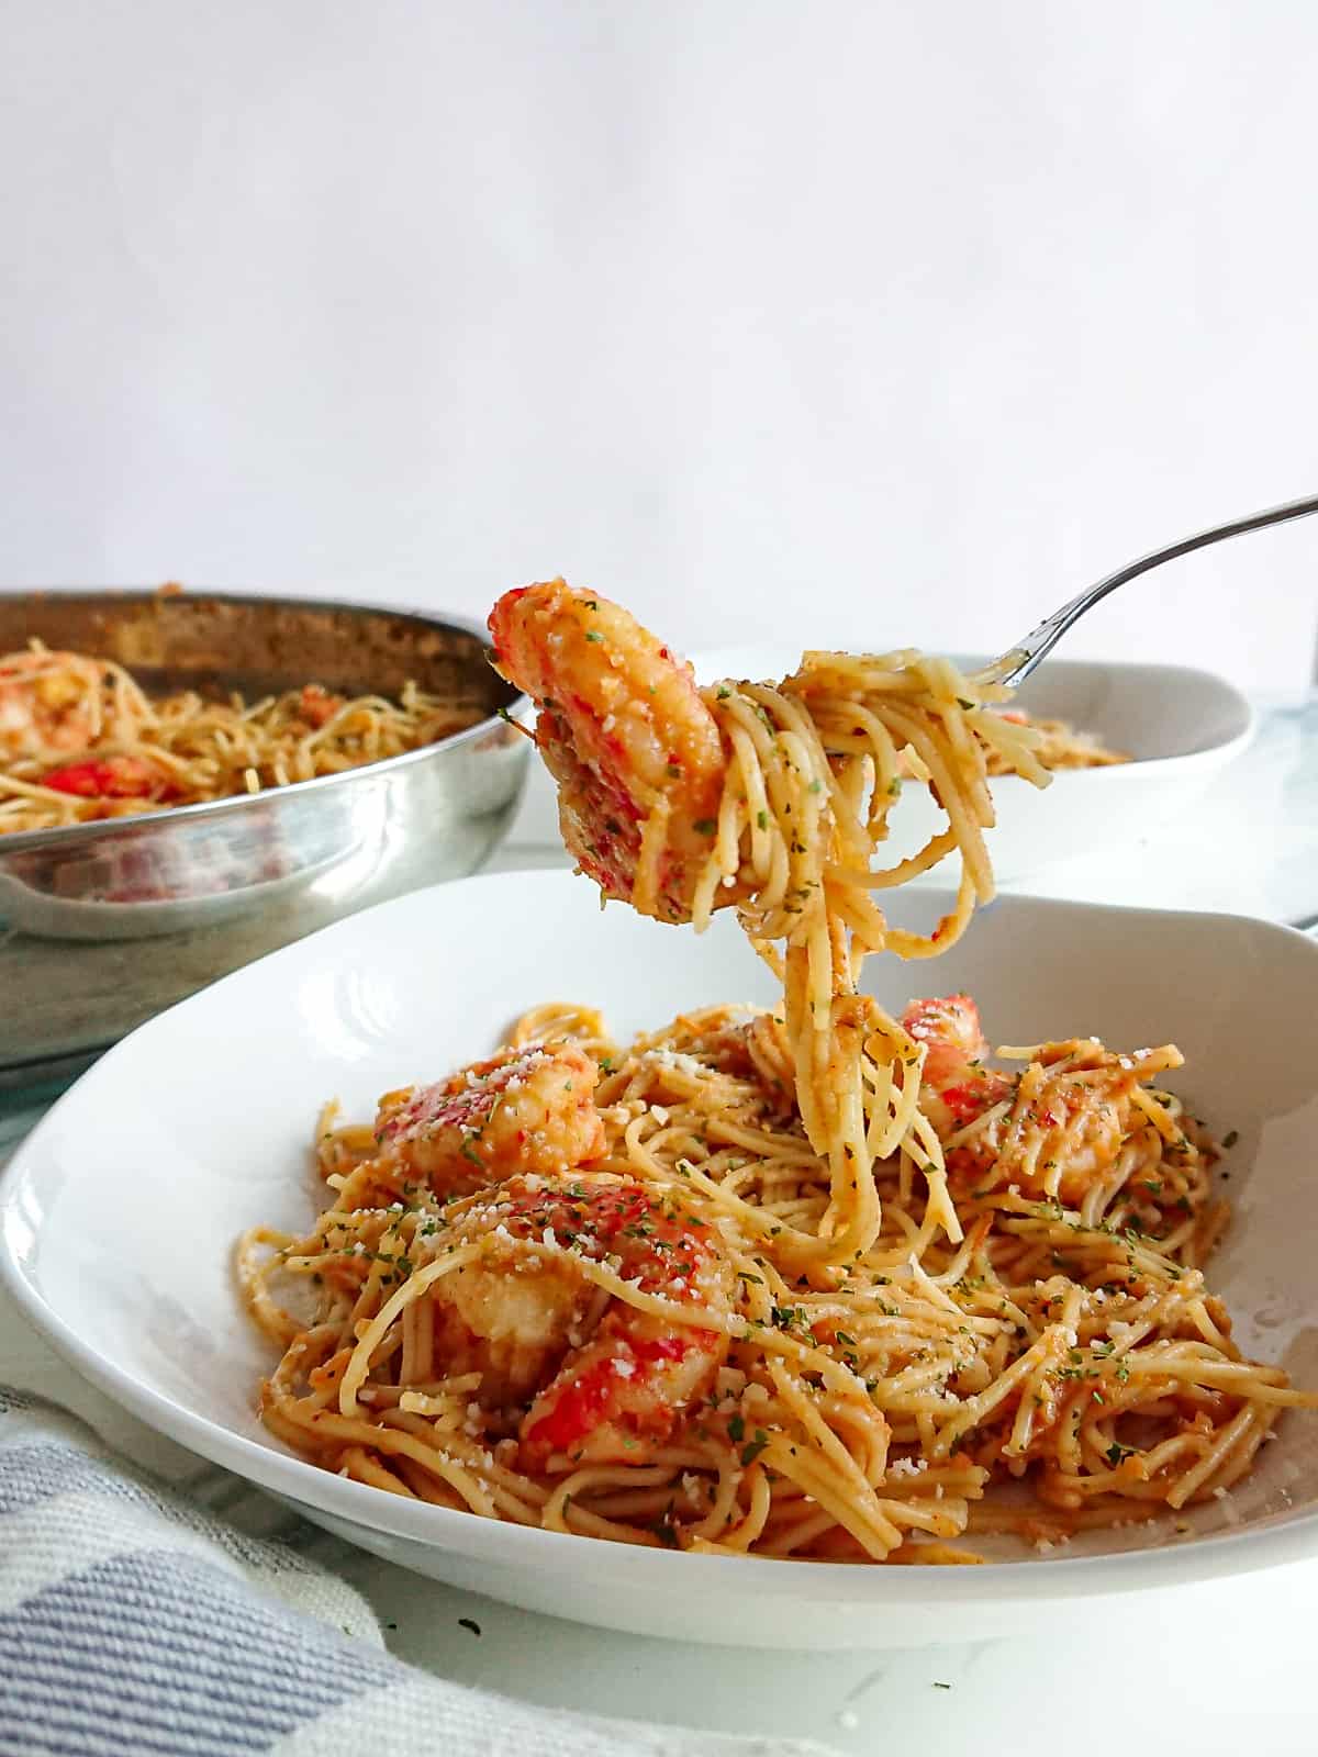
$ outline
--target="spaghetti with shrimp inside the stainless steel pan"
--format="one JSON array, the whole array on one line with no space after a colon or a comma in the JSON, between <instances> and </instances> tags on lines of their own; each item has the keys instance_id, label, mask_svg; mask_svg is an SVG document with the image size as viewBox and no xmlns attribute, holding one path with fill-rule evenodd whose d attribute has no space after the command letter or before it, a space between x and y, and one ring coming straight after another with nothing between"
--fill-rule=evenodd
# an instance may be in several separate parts
<instances>
[{"instance_id":1,"label":"spaghetti with shrimp inside the stainless steel pan","mask_svg":"<svg viewBox=\"0 0 1318 1757\"><path fill-rule=\"evenodd\" d=\"M225 799L436 743L480 703L406 683L399 701L304 689L246 703L149 698L111 659L33 641L0 655L0 835Z\"/></svg>"}]
</instances>

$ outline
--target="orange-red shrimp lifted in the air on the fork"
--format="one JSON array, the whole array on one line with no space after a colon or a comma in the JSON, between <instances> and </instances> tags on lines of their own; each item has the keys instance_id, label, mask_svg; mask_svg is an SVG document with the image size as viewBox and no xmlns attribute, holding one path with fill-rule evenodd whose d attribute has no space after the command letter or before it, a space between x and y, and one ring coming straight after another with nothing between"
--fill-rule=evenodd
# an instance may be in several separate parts
<instances>
[{"instance_id":1,"label":"orange-red shrimp lifted in the air on the fork","mask_svg":"<svg viewBox=\"0 0 1318 1757\"><path fill-rule=\"evenodd\" d=\"M536 743L582 871L606 898L687 921L728 775L691 666L626 610L564 580L504 592L489 625L496 669L536 703ZM664 843L654 900L633 894L652 821Z\"/></svg>"}]
</instances>

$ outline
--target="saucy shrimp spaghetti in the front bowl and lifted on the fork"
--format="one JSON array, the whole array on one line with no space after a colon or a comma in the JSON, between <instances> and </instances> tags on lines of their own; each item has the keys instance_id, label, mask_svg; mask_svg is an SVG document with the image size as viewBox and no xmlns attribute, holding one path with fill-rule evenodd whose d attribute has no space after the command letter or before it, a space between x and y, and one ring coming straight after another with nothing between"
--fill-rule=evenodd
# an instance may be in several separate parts
<instances>
[{"instance_id":1,"label":"saucy shrimp spaghetti in the front bowl and lifted on the fork","mask_svg":"<svg viewBox=\"0 0 1318 1757\"><path fill-rule=\"evenodd\" d=\"M896 1019L858 987L991 896L986 754L1047 778L1003 692L914 654L696 691L561 582L492 625L582 866L659 919L736 907L782 1005L626 1047L545 1007L374 1124L327 1114L329 1205L241 1249L272 1432L399 1495L773 1557L968 1562L1230 1490L1314 1399L1206 1288L1220 1149L1176 1049L1012 1070L967 996ZM875 870L902 764L947 829ZM884 889L952 852L935 933L889 926Z\"/></svg>"}]
</instances>

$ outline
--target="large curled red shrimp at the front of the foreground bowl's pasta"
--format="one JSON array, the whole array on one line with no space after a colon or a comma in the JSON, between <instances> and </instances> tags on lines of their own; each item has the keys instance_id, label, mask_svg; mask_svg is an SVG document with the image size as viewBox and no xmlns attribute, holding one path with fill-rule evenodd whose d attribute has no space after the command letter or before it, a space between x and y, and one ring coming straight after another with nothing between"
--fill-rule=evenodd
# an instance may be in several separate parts
<instances>
[{"instance_id":1,"label":"large curled red shrimp at the front of the foreground bowl's pasta","mask_svg":"<svg viewBox=\"0 0 1318 1757\"><path fill-rule=\"evenodd\" d=\"M722 1330L640 1311L589 1274L603 1265L641 1293L729 1312L722 1240L671 1193L599 1172L524 1174L473 1198L448 1237L483 1249L434 1284L436 1358L480 1372L485 1409L524 1407L524 1469L643 1464L713 1386Z\"/></svg>"}]
</instances>

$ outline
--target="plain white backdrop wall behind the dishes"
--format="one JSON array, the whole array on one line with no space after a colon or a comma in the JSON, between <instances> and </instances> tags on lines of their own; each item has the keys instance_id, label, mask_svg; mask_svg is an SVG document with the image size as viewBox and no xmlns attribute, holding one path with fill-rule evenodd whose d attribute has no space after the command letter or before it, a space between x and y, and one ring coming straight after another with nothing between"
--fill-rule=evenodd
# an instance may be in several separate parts
<instances>
[{"instance_id":1,"label":"plain white backdrop wall behind the dishes","mask_svg":"<svg viewBox=\"0 0 1318 1757\"><path fill-rule=\"evenodd\" d=\"M1318 485L1311 0L0 0L0 583L1005 643ZM1074 654L1309 676L1318 522Z\"/></svg>"}]
</instances>

